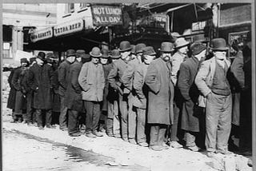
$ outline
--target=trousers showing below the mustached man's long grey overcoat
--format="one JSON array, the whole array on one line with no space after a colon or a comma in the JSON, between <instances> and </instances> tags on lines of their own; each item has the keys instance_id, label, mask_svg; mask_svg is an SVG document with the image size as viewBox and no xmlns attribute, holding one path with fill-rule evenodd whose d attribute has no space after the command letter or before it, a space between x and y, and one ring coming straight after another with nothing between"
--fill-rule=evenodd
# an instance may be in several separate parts
<instances>
[{"instance_id":1,"label":"trousers showing below the mustached man's long grey overcoat","mask_svg":"<svg viewBox=\"0 0 256 171\"><path fill-rule=\"evenodd\" d=\"M167 125L152 124L150 127L150 145L163 145Z\"/></svg>"}]
</instances>

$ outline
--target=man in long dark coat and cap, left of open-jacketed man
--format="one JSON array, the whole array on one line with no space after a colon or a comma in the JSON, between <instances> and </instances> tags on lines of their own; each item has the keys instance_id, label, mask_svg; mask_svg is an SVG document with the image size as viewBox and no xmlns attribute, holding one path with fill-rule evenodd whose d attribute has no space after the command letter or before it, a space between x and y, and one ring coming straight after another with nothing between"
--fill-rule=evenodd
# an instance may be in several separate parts
<instances>
[{"instance_id":1,"label":"man in long dark coat and cap, left of open-jacketed man","mask_svg":"<svg viewBox=\"0 0 256 171\"><path fill-rule=\"evenodd\" d=\"M191 58L182 62L178 75L178 88L184 99L182 105L182 129L185 130L186 148L198 151L195 143L200 132L199 118L202 118L202 108L199 108L198 87L194 84L194 78L198 74L198 67L206 57L206 46L200 42L194 42L190 46Z\"/></svg>"}]
</instances>

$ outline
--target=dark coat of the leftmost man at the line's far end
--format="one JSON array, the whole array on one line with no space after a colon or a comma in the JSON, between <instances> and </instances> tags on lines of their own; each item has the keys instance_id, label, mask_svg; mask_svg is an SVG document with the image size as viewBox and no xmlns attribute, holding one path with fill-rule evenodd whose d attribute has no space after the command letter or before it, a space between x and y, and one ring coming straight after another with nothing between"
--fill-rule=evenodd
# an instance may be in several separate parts
<instances>
[{"instance_id":1,"label":"dark coat of the leftmost man at the line's far end","mask_svg":"<svg viewBox=\"0 0 256 171\"><path fill-rule=\"evenodd\" d=\"M7 101L7 108L9 109L14 109L15 107L15 97L16 97L16 89L14 89L14 85L11 84L11 80L14 76L14 71L17 70L18 68L14 68L11 70L9 78L8 78L8 83L10 85L10 93Z\"/></svg>"}]
</instances>

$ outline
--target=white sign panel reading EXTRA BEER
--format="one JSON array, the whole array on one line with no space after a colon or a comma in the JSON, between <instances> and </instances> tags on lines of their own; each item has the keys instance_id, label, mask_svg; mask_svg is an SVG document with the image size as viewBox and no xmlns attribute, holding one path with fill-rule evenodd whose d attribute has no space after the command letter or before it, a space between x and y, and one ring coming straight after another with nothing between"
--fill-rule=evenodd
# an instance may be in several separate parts
<instances>
[{"instance_id":1,"label":"white sign panel reading EXTRA BEER","mask_svg":"<svg viewBox=\"0 0 256 171\"><path fill-rule=\"evenodd\" d=\"M81 31L83 29L83 20L74 20L72 22L64 22L58 26L54 26L54 36L61 36L64 34L71 34Z\"/></svg>"}]
</instances>

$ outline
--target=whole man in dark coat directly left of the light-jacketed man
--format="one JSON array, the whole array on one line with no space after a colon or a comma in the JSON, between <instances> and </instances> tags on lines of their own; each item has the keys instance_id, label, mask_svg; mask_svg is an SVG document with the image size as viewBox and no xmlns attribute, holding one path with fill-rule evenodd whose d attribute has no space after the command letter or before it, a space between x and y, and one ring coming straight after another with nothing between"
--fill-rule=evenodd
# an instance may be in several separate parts
<instances>
[{"instance_id":1,"label":"whole man in dark coat directly left of the light-jacketed man","mask_svg":"<svg viewBox=\"0 0 256 171\"><path fill-rule=\"evenodd\" d=\"M68 74L65 105L68 113L68 133L70 137L81 135L79 130L79 115L85 114L82 101L82 87L78 83L78 75L82 69L82 58L86 58L85 50L76 51L76 60L70 65Z\"/></svg>"}]
</instances>

